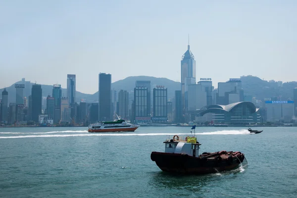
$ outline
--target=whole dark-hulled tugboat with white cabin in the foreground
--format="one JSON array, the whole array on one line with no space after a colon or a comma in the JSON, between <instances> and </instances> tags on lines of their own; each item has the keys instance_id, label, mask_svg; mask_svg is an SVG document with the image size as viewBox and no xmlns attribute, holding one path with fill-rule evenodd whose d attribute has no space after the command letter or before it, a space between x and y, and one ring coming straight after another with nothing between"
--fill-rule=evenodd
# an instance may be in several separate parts
<instances>
[{"instance_id":1,"label":"whole dark-hulled tugboat with white cabin in the foreground","mask_svg":"<svg viewBox=\"0 0 297 198\"><path fill-rule=\"evenodd\" d=\"M165 142L165 152L151 152L150 159L165 172L183 174L208 174L231 170L241 163L247 164L244 153L239 151L203 152L199 155L196 137L173 136Z\"/></svg>"}]
</instances>

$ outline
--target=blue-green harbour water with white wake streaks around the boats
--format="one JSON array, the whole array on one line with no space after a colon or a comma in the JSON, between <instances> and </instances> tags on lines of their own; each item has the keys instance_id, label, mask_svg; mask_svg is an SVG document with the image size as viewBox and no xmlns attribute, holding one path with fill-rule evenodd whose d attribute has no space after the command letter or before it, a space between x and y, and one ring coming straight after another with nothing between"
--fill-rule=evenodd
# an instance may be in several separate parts
<instances>
[{"instance_id":1,"label":"blue-green harbour water with white wake streaks around the boats","mask_svg":"<svg viewBox=\"0 0 297 198\"><path fill-rule=\"evenodd\" d=\"M172 175L151 161L191 127L88 133L86 127L0 128L1 198L296 198L297 128L199 127L200 153L241 151L248 165L208 175ZM194 131L192 130L193 134Z\"/></svg>"}]
</instances>

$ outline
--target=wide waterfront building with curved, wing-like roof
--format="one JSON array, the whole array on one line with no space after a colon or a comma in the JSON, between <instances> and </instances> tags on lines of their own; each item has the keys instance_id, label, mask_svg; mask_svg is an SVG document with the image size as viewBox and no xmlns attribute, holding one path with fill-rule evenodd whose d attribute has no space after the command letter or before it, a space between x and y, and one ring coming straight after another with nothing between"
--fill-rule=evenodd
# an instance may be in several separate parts
<instances>
[{"instance_id":1,"label":"wide waterfront building with curved, wing-like roof","mask_svg":"<svg viewBox=\"0 0 297 198\"><path fill-rule=\"evenodd\" d=\"M224 123L255 123L260 122L259 109L252 102L235 102L228 105L213 104L206 106L206 110L199 113L213 113L214 122Z\"/></svg>"}]
</instances>

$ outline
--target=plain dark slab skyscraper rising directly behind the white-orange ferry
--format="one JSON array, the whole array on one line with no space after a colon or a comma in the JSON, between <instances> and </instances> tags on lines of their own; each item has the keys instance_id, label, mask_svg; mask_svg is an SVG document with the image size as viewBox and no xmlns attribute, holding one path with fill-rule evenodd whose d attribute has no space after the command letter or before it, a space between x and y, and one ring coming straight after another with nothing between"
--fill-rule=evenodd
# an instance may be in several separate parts
<instances>
[{"instance_id":1,"label":"plain dark slab skyscraper rising directly behind the white-orange ferry","mask_svg":"<svg viewBox=\"0 0 297 198\"><path fill-rule=\"evenodd\" d=\"M99 121L111 117L111 74L99 73Z\"/></svg>"}]
</instances>

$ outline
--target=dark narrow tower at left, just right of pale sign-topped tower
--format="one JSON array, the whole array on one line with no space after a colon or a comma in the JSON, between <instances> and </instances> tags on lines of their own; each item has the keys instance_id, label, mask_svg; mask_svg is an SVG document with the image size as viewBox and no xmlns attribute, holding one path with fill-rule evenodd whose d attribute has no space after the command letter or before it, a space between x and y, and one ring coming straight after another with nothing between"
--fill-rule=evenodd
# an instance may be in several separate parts
<instances>
[{"instance_id":1,"label":"dark narrow tower at left, just right of pale sign-topped tower","mask_svg":"<svg viewBox=\"0 0 297 198\"><path fill-rule=\"evenodd\" d=\"M39 122L39 114L42 110L42 89L41 85L34 84L32 85L32 120Z\"/></svg>"}]
</instances>

